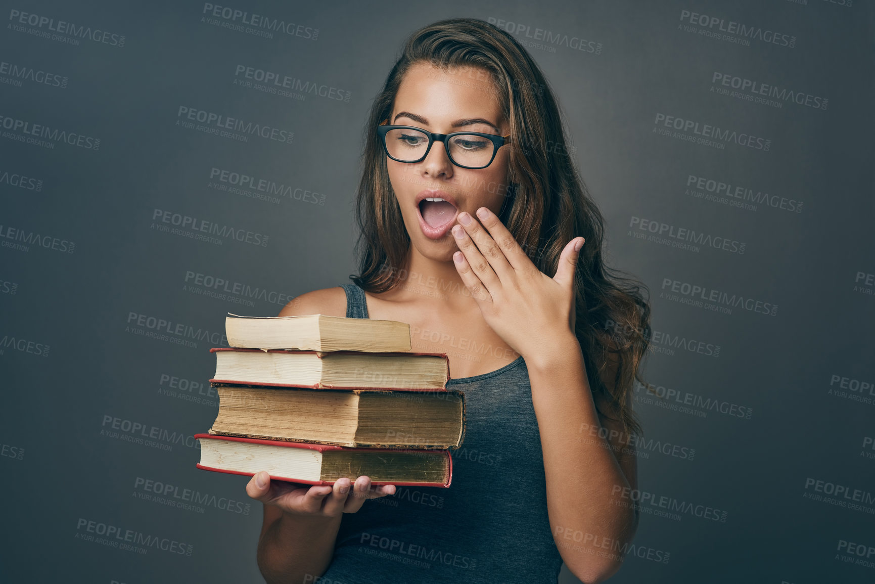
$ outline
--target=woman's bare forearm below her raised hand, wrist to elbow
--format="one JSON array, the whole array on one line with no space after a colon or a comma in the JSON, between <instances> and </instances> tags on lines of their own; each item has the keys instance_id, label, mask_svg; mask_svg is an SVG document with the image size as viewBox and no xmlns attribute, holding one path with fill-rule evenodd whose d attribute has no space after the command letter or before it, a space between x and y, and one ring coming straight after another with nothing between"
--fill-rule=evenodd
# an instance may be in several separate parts
<instances>
[{"instance_id":1,"label":"woman's bare forearm below her raised hand, wrist to elbow","mask_svg":"<svg viewBox=\"0 0 875 584\"><path fill-rule=\"evenodd\" d=\"M526 365L550 527L572 573L584 582L601 581L620 569L621 550L637 527L634 506L620 496L630 485L603 433L592 438L581 432L601 424L577 339L563 337L542 355Z\"/></svg>"}]
</instances>

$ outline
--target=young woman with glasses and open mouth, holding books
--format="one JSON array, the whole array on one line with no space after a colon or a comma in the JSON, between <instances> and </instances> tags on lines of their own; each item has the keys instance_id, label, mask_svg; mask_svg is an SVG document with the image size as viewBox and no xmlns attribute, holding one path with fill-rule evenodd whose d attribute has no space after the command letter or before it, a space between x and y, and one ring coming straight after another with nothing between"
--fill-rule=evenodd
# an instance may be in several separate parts
<instances>
[{"instance_id":1,"label":"young woman with glasses and open mouth, holding books","mask_svg":"<svg viewBox=\"0 0 875 584\"><path fill-rule=\"evenodd\" d=\"M563 561L597 582L620 568L650 311L646 288L603 264L563 133L506 32L454 18L409 37L367 123L360 275L280 315L408 322L414 351L449 356L465 441L449 489L255 475L268 582L532 584Z\"/></svg>"}]
</instances>

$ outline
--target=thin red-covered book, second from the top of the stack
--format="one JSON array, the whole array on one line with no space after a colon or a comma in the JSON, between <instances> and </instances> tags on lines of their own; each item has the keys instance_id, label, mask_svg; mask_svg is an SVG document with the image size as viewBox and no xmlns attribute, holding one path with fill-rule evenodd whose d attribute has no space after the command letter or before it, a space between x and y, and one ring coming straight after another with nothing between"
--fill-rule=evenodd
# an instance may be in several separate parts
<instances>
[{"instance_id":1,"label":"thin red-covered book, second from the top of the stack","mask_svg":"<svg viewBox=\"0 0 875 584\"><path fill-rule=\"evenodd\" d=\"M358 319L351 319L358 320ZM441 391L450 378L445 353L363 353L260 348L211 348L210 382L312 389Z\"/></svg>"}]
</instances>

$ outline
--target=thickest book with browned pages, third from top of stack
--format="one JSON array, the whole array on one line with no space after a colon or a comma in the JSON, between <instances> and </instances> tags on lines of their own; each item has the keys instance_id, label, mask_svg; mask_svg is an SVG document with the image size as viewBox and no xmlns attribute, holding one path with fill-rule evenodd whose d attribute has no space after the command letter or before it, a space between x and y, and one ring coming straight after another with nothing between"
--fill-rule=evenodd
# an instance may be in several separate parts
<instances>
[{"instance_id":1,"label":"thickest book with browned pages, third from top of stack","mask_svg":"<svg viewBox=\"0 0 875 584\"><path fill-rule=\"evenodd\" d=\"M461 391L310 390L213 383L211 434L343 447L457 448L465 437Z\"/></svg>"}]
</instances>

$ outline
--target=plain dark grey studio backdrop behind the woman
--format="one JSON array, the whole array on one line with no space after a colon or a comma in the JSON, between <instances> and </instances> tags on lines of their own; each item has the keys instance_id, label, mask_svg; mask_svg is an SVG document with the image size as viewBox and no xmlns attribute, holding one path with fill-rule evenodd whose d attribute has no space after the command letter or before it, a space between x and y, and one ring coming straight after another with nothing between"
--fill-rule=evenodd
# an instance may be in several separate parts
<instances>
[{"instance_id":1,"label":"plain dark grey studio backdrop behind the woman","mask_svg":"<svg viewBox=\"0 0 875 584\"><path fill-rule=\"evenodd\" d=\"M101 143L97 151L64 143L49 149L0 137L0 176L42 180L35 190L0 179L3 229L75 243L73 253L33 244L0 248L0 337L33 341L34 351L51 347L45 356L27 352L26 343L25 350L0 347L0 578L262 581L255 566L260 503L248 515L217 508L221 503L200 505L201 513L138 496L144 490L137 478L149 479L217 502L233 499L241 510L249 501L246 477L195 468L200 453L185 440L165 440L172 449L162 450L102 435L111 426L105 416L186 436L206 432L215 416L214 405L160 392L168 389L162 375L206 382L215 343L146 338L126 330L129 314L221 333L227 312L273 315L283 304L189 292L188 271L290 297L346 282L355 271L352 204L370 100L409 32L467 16L601 44L600 53L529 51L562 104L577 165L606 215L610 263L650 287L656 330L720 346L716 358L677 348L651 355L648 381L753 408L751 419L740 419L636 405L646 438L696 453L693 460L656 451L641 457L641 490L725 511L726 518L642 514L634 544L669 552L669 561L630 554L612 581L875 579L875 564L845 562L856 556L837 550L840 540L875 546L875 503L853 510L809 499L816 491L806 488L808 479L822 480L864 490L870 502L875 496L875 450L864 447L875 436L875 393L869 404L830 394L838 389L830 386L833 376L875 381L875 296L872 286L855 288L858 272L875 272L872 4L231 6L318 29L318 39L263 39L202 23L197 2L2 3L0 61L66 76L67 83L0 83L0 116ZM11 27L12 10L101 28L124 35L125 43L39 38ZM741 46L685 32L678 28L683 10L793 35L795 46ZM234 84L237 65L338 88L350 100L299 101L242 88ZM828 108L784 102L777 109L718 95L710 91L714 72L828 98ZM294 139L239 142L185 129L176 125L179 106L290 130ZM749 132L770 139L770 149L718 150L663 137L653 131L658 113ZM214 167L319 193L324 204L293 197L275 204L216 190L207 186ZM802 201L802 211L697 199L684 193L689 175ZM151 227L156 208L266 234L269 243L227 238L216 245L162 233ZM642 241L629 235L633 216L730 237L746 250L691 252ZM660 298L664 278L779 309L769 316L685 306ZM179 393L197 397L197 390ZM176 540L192 552L143 554L84 541L76 537L80 519ZM577 581L564 569L560 580Z\"/></svg>"}]
</instances>

